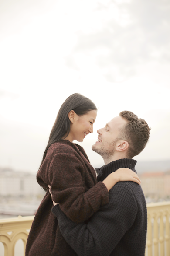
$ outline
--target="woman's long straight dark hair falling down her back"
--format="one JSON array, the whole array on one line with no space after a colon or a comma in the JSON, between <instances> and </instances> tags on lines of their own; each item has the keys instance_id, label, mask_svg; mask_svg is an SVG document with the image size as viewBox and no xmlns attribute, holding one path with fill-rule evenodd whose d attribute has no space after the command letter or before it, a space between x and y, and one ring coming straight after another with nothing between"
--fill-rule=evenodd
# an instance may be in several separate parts
<instances>
[{"instance_id":1,"label":"woman's long straight dark hair falling down her back","mask_svg":"<svg viewBox=\"0 0 170 256\"><path fill-rule=\"evenodd\" d=\"M74 110L78 116L82 116L87 114L91 110L97 110L97 108L89 98L86 98L79 93L74 93L65 100L65 102L61 105L61 108L58 111L57 118L50 133L47 147L44 151L41 165L46 157L48 148L53 143L63 140L68 136L70 132L70 120L68 118L68 113L71 110Z\"/></svg>"}]
</instances>

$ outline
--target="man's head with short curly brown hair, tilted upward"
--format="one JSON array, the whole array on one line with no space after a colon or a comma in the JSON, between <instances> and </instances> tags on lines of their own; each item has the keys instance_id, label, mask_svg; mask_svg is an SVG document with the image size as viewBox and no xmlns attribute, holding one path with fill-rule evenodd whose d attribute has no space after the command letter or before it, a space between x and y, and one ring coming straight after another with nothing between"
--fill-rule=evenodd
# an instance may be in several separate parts
<instances>
[{"instance_id":1,"label":"man's head with short curly brown hair, tilted upward","mask_svg":"<svg viewBox=\"0 0 170 256\"><path fill-rule=\"evenodd\" d=\"M150 136L146 121L130 111L120 112L119 116L97 132L98 141L92 146L92 150L106 162L113 157L114 160L133 158L143 151Z\"/></svg>"}]
</instances>

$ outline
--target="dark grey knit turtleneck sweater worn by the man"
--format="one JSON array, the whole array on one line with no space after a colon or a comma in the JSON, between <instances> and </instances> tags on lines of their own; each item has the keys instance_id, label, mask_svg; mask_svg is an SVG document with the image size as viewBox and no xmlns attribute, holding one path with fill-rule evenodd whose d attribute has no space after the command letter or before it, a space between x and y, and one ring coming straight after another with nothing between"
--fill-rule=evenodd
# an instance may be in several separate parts
<instances>
[{"instance_id":1,"label":"dark grey knit turtleneck sweater worn by the man","mask_svg":"<svg viewBox=\"0 0 170 256\"><path fill-rule=\"evenodd\" d=\"M135 170L136 160L120 159L99 169L98 181L119 168ZM109 203L86 223L75 224L58 205L52 212L58 218L61 234L78 256L144 256L147 210L140 185L118 182L109 191Z\"/></svg>"}]
</instances>

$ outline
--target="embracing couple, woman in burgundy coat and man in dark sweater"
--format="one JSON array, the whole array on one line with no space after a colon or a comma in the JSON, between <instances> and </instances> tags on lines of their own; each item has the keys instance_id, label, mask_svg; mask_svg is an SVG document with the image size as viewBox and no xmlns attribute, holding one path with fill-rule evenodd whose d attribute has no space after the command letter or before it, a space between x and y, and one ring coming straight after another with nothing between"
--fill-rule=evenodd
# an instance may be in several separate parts
<instances>
[{"instance_id":1,"label":"embracing couple, woman in burgundy coat and man in dark sweater","mask_svg":"<svg viewBox=\"0 0 170 256\"><path fill-rule=\"evenodd\" d=\"M26 256L144 256L146 201L132 158L146 146L150 128L122 111L99 129L92 150L105 165L96 175L84 149L73 143L93 132L96 116L95 104L77 93L61 105L37 172L46 194Z\"/></svg>"}]
</instances>

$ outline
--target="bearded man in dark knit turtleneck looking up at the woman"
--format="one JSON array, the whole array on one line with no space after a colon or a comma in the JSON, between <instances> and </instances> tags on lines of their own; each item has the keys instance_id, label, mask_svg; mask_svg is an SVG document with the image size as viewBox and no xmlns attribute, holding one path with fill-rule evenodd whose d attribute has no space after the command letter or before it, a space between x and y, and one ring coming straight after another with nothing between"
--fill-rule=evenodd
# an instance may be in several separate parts
<instances>
[{"instance_id":1,"label":"bearded man in dark knit turtleneck looking up at the woman","mask_svg":"<svg viewBox=\"0 0 170 256\"><path fill-rule=\"evenodd\" d=\"M136 172L136 160L146 146L150 128L133 112L123 111L98 131L92 150L105 165L97 169L103 181L118 168ZM61 211L52 209L58 218L61 234L79 256L144 256L147 231L146 201L136 182L118 182L109 191L109 203L88 221L75 224Z\"/></svg>"}]
</instances>

